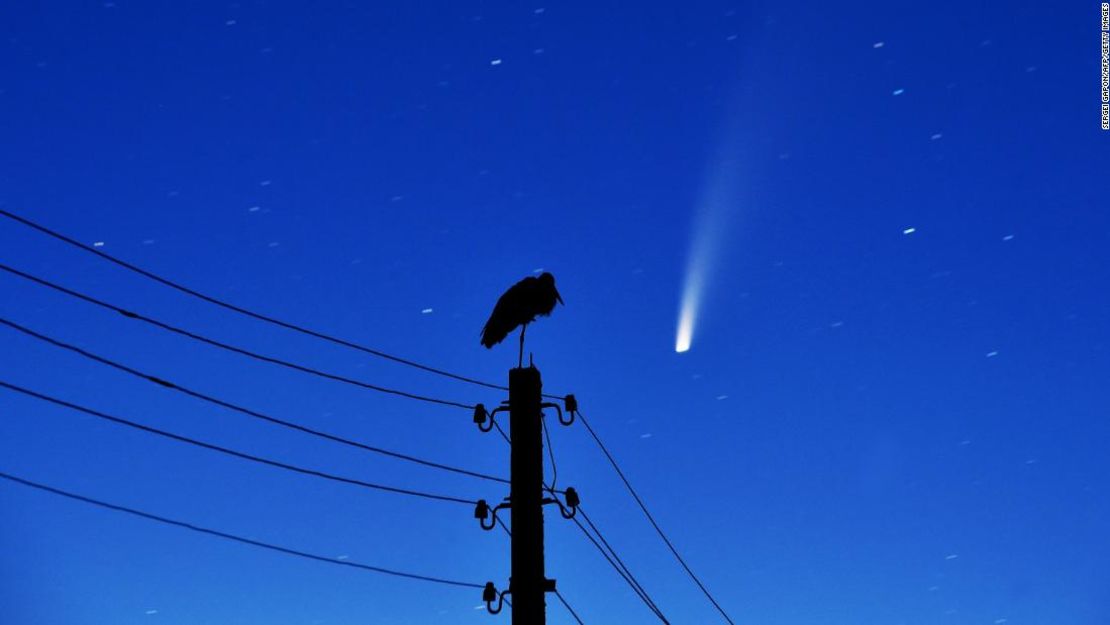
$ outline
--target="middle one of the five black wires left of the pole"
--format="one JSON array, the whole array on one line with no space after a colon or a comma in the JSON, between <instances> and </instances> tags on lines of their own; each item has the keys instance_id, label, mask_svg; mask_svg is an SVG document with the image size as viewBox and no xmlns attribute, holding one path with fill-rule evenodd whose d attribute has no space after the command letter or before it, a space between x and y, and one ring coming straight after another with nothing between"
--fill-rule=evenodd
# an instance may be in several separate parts
<instances>
[{"instance_id":1,"label":"middle one of the five black wires left of the pole","mask_svg":"<svg viewBox=\"0 0 1110 625\"><path fill-rule=\"evenodd\" d=\"M290 422L290 421L278 419L275 416L271 416L271 415L268 415L268 414L264 414L264 413L261 413L261 412L248 409L248 407L243 407L243 406L233 404L231 402L213 397L211 395L205 395L205 394L203 394L203 393L201 393L199 391L193 391L193 390L186 389L184 386L181 386L179 384L170 382L170 381L168 381L168 380L165 380L163 377L158 377L155 375L151 375L149 373L144 373L142 371L139 371L139 370L132 369L132 367L130 367L130 366L128 366L125 364L121 364L121 363L118 363L115 361L109 360L109 359L107 359L104 356L94 354L92 352L89 352L89 351L83 350L81 347L78 347L75 345L72 345L72 344L69 344L69 343L64 343L64 342L59 341L58 339L53 339L51 336L47 336L46 334L41 334L41 333L36 332L36 331L33 331L33 330L31 330L29 327L24 327L24 326L16 323L16 322L9 321L9 320L3 319L3 317L0 317L0 324L7 325L7 326L9 326L9 327L11 327L13 330L18 330L19 332L22 332L23 334L27 334L28 336L32 336L34 339L38 339L40 341L43 341L43 342L49 343L51 345L54 345L57 347L61 347L63 350L69 350L70 352L73 352L75 354L84 356L84 357L87 357L89 360L92 360L94 362L98 362L98 363L111 366L111 367L113 367L115 370L119 370L119 371L122 371L124 373L129 373L131 375L134 375L135 377L140 377L142 380L148 381L148 382L153 382L154 384L158 384L159 386L163 386L165 389L178 391L179 393L183 393L183 394L189 395L191 397L195 397L198 400L201 400L201 401L204 401L204 402L209 402L211 404L215 404L215 405L225 407L228 410L232 410L232 411L245 414L245 415L254 417L254 419L260 419L262 421L266 421L269 423L273 423L273 424L280 425L282 427L289 427L291 430L294 430L294 431L297 431L297 432L303 432L305 434L310 434L310 435L313 435L313 436L319 436L319 437L327 440L327 441L333 441L333 442L336 442L336 443L342 443L344 445L350 445L352 447L356 447L356 448L364 450L364 451L367 451L367 452L383 454L383 455L395 457L395 458L398 458L398 460L404 460L404 461L407 461L407 462L413 462L413 463L416 463L416 464L422 464L422 465L425 465L425 466L431 466L433 468L441 468L441 470L444 470L444 471L451 471L451 472L460 473L460 474L463 474L463 475L470 475L470 476L473 476L473 477L481 477L483 480L490 480L490 481L493 481L493 482L501 482L503 484L508 484L508 480L505 480L503 477L497 477L495 475L488 475L488 474L485 474L485 473L478 473L476 471L470 471L470 470L466 470L466 468L458 468L456 466L451 466L451 465L446 465L446 464L442 464L442 463L437 463L437 462L432 462L432 461L428 461L428 460L418 458L416 456L411 456L408 454L403 454L403 453L400 453L400 452L394 452L394 451L385 450L385 448L382 448L382 447L375 447L373 445L367 445L365 443L360 443L357 441L352 441L350 438L344 438L342 436L336 436L334 434L329 434L326 432L321 432L319 430L313 430L313 429L307 427L305 425L301 425L301 424L297 424L297 423L293 423L293 422Z\"/></svg>"}]
</instances>

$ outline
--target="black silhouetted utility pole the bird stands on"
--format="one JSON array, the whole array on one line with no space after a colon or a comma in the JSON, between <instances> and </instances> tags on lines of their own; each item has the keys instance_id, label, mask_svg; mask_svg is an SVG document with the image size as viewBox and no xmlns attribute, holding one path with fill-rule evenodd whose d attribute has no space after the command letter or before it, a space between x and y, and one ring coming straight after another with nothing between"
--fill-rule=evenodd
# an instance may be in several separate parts
<instances>
[{"instance_id":1,"label":"black silhouetted utility pole the bird stands on","mask_svg":"<svg viewBox=\"0 0 1110 625\"><path fill-rule=\"evenodd\" d=\"M539 370L517 367L508 372L509 501L513 522L512 573L513 625L546 623L544 593L544 455L539 422L542 402ZM554 583L552 583L553 585Z\"/></svg>"}]
</instances>

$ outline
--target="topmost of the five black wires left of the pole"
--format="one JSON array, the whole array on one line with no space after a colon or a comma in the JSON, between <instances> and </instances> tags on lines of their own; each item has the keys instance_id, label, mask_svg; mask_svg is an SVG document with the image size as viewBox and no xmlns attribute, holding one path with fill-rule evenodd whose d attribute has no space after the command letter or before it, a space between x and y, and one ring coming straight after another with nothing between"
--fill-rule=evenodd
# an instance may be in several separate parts
<instances>
[{"instance_id":1,"label":"topmost of the five black wires left of the pole","mask_svg":"<svg viewBox=\"0 0 1110 625\"><path fill-rule=\"evenodd\" d=\"M148 270L144 270L144 269L139 268L137 265L133 265L133 264L131 264L131 263L129 263L127 261L123 261L121 259L117 259L115 256L113 256L111 254L108 254L108 253L105 253L105 252L103 252L101 250L98 250L95 248L87 245L87 244L84 244L84 243L82 243L80 241L77 241L75 239L72 239L70 236L61 234L60 232L56 232L53 230L50 230L49 228L47 228L47 226L44 226L42 224L36 223L36 222L33 222L33 221L31 221L29 219L19 216L17 214L11 213L9 211L6 211L3 209L0 209L0 216L6 216L6 218L8 218L8 219L10 219L12 221L16 221L16 222L19 222L19 223L26 225L26 226L29 226L29 228L32 228L34 230L38 230L39 232L41 232L43 234L47 234L49 236L52 236L52 238L54 238L54 239L57 239L59 241L62 241L63 243L67 243L67 244L72 245L74 248L78 248L79 250L83 250L85 252L89 252L90 254L94 254L94 255L97 255L97 256L99 256L99 258L101 258L103 260L107 260L107 261L109 261L111 263L114 263L114 264L117 264L119 266L122 266L122 268L124 268L124 269L127 269L129 271L138 273L139 275L142 275L143 278L148 278L148 279L153 280L153 281L155 281L155 282L158 282L160 284L163 284L165 286L169 286L171 289L174 289L176 291L185 293L186 295L191 295L193 298L198 298L200 300L203 300L203 301L209 302L211 304L215 304L215 305L218 305L220 308L223 308L225 310L230 310L230 311L236 312L239 314L246 315L246 316L249 316L251 319L255 319L255 320L263 321L263 322L266 322L266 323L270 323L270 324L273 324L273 325L278 325L278 326L284 327L286 330L292 330L294 332L300 332L301 334L305 334L307 336L313 336L315 339L321 339L323 341L327 341L327 342L334 343L336 345L342 345L344 347L350 347L352 350L357 350L360 352L363 352L363 353L366 353L366 354L371 354L371 355L374 355L374 356L377 356L377 357L382 357L382 359L385 359L385 360L389 360L389 361L393 361L393 362L396 362L396 363L400 363L400 364L404 364L404 365L407 365L407 366L420 369L420 370L426 371L428 373L434 373L436 375L443 375L445 377L451 377L453 380L458 380L460 382L466 382L466 383L470 383L470 384L476 384L478 386L485 386L487 389L497 389L498 391L507 391L508 390L507 386L502 386L502 385L498 385L498 384L492 384L490 382L483 382L481 380L475 380L473 377L467 377L465 375L458 375L456 373L451 373L451 372L444 371L442 369L436 369L436 367L433 367L433 366L421 364L421 363L415 362L415 361L411 361L411 360L407 360L407 359L403 359L403 357L400 357L400 356L387 354L387 353L382 352L380 350L374 350L372 347L367 347L366 345L362 345L362 344L355 343L353 341L349 341L346 339L340 339L337 336L333 336L333 335L326 334L324 332L319 332L316 330L311 330L309 327L304 327L304 326L297 325L295 323L291 323L291 322L287 322L287 321L282 321L280 319L276 319L276 317L273 317L273 316L270 316L270 315L265 315L265 314L262 314L260 312L252 311L250 309L238 306L238 305L232 304L230 302L226 302L224 300L220 300L218 298L213 298L212 295L206 295L204 293L201 293L200 291L196 291L194 289L190 289L188 286L184 286L184 285L182 285L182 284L180 284L178 282L174 282L172 280L169 280L167 278L162 278L161 275L158 275L158 274L155 274L155 273L153 273L151 271L148 271Z\"/></svg>"}]
</instances>

